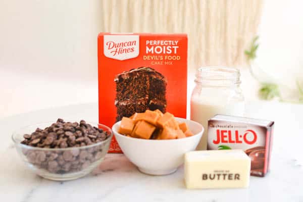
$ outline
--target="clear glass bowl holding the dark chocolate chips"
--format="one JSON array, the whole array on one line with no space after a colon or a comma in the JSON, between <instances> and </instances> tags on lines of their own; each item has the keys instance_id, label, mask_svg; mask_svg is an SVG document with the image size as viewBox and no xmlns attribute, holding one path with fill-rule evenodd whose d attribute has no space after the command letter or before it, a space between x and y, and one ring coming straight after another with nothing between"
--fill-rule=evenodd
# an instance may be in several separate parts
<instances>
[{"instance_id":1,"label":"clear glass bowl holding the dark chocolate chips","mask_svg":"<svg viewBox=\"0 0 303 202\"><path fill-rule=\"evenodd\" d=\"M108 153L112 130L102 124L90 123L103 129L108 138L91 145L67 148L40 148L22 144L24 134L31 134L36 128L45 128L54 122L45 122L22 127L15 131L12 139L21 159L35 174L51 180L73 180L89 174Z\"/></svg>"}]
</instances>

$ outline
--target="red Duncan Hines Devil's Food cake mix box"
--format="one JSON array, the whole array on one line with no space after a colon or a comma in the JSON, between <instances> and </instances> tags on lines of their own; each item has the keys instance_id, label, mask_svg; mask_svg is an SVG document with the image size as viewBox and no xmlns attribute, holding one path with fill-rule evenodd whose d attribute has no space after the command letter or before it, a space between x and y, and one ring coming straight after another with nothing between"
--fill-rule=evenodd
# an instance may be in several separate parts
<instances>
[{"instance_id":1,"label":"red Duncan Hines Devil's Food cake mix box","mask_svg":"<svg viewBox=\"0 0 303 202\"><path fill-rule=\"evenodd\" d=\"M159 109L186 118L187 35L98 35L99 123ZM109 153L121 153L113 137Z\"/></svg>"}]
</instances>

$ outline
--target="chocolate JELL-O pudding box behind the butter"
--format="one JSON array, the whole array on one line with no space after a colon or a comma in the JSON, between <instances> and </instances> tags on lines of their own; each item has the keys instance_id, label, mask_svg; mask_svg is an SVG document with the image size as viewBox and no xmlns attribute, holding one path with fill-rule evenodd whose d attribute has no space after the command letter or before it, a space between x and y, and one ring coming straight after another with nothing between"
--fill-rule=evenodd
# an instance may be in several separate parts
<instances>
[{"instance_id":1,"label":"chocolate JELL-O pudding box behind the butter","mask_svg":"<svg viewBox=\"0 0 303 202\"><path fill-rule=\"evenodd\" d=\"M250 174L269 171L274 122L216 115L208 122L208 149L242 149L251 159Z\"/></svg>"}]
</instances>

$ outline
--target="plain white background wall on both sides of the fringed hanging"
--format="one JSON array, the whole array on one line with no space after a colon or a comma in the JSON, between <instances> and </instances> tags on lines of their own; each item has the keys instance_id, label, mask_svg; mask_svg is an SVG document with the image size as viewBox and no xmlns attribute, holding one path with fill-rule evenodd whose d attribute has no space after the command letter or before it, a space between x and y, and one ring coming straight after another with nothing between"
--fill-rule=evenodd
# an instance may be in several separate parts
<instances>
[{"instance_id":1,"label":"plain white background wall on both sides of the fringed hanging","mask_svg":"<svg viewBox=\"0 0 303 202\"><path fill-rule=\"evenodd\" d=\"M0 1L0 118L97 102L100 2ZM265 0L258 63L293 85L303 69L302 1ZM242 70L247 99L257 83Z\"/></svg>"}]
</instances>

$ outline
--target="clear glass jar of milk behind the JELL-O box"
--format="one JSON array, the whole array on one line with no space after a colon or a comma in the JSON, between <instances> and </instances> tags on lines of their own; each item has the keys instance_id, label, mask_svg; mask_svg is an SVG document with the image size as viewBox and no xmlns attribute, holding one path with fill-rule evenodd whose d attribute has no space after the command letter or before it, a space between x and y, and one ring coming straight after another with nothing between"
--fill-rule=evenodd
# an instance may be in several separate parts
<instances>
[{"instance_id":1,"label":"clear glass jar of milk behind the JELL-O box","mask_svg":"<svg viewBox=\"0 0 303 202\"><path fill-rule=\"evenodd\" d=\"M205 150L208 120L216 114L243 116L244 96L240 89L240 72L235 68L199 68L195 83L190 101L190 119L205 128L197 146L198 150Z\"/></svg>"}]
</instances>

